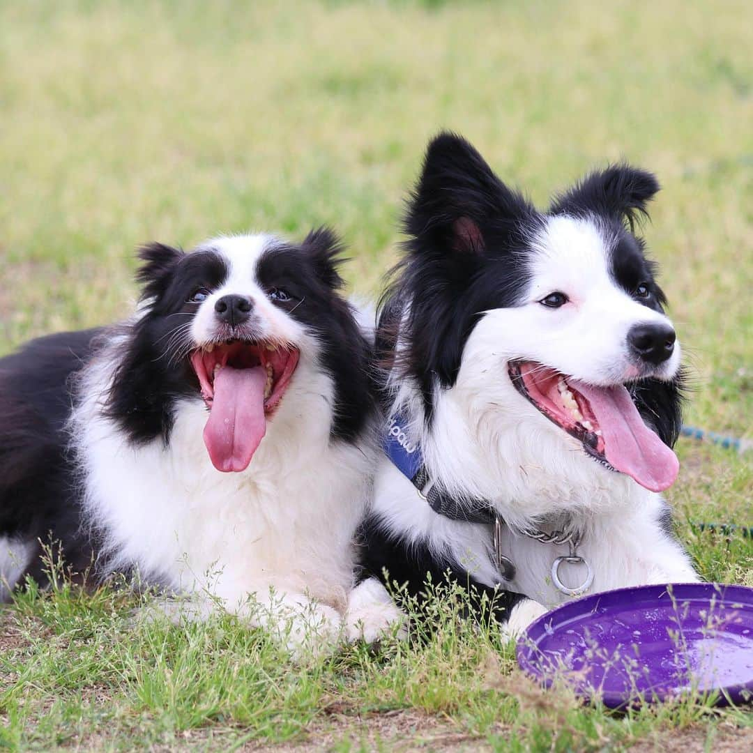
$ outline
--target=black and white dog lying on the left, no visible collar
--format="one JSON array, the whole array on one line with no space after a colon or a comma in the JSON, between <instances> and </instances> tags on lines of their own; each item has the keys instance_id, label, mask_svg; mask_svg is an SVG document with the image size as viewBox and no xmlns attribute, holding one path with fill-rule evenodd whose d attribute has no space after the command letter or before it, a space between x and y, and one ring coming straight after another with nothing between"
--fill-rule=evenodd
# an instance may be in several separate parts
<instances>
[{"instance_id":1,"label":"black and white dog lying on the left, no visible collar","mask_svg":"<svg viewBox=\"0 0 753 753\"><path fill-rule=\"evenodd\" d=\"M94 575L340 631L370 493L371 346L339 245L221 237L142 248L114 328L0 360L0 568L44 582L40 542ZM300 624L299 624L300 623Z\"/></svg>"}]
</instances>

